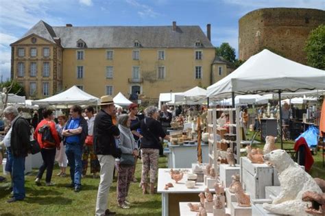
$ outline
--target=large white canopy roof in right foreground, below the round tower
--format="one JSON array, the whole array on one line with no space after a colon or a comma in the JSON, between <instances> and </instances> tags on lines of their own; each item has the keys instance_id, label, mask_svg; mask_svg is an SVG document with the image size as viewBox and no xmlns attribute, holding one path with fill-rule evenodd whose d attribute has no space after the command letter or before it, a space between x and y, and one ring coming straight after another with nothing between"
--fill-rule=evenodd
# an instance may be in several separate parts
<instances>
[{"instance_id":1,"label":"large white canopy roof in right foreground, below the round tower","mask_svg":"<svg viewBox=\"0 0 325 216\"><path fill-rule=\"evenodd\" d=\"M208 97L265 91L324 89L325 71L308 67L264 49L251 56L238 69L208 86Z\"/></svg>"}]
</instances>

